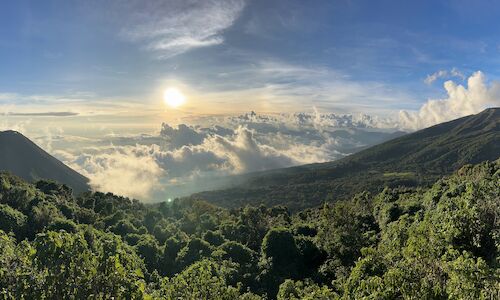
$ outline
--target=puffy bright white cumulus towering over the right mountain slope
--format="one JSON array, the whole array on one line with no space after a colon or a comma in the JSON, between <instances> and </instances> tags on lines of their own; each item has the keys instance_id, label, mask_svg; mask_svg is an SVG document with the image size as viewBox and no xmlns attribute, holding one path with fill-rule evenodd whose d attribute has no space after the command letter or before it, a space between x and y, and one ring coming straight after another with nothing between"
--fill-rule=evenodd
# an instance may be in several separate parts
<instances>
[{"instance_id":1,"label":"puffy bright white cumulus towering over the right mountain slope","mask_svg":"<svg viewBox=\"0 0 500 300\"><path fill-rule=\"evenodd\" d=\"M417 112L401 111L401 127L420 129L463 116L476 114L487 107L500 106L500 83L488 84L480 71L467 80L467 87L449 80L444 83L445 99L428 100Z\"/></svg>"}]
</instances>

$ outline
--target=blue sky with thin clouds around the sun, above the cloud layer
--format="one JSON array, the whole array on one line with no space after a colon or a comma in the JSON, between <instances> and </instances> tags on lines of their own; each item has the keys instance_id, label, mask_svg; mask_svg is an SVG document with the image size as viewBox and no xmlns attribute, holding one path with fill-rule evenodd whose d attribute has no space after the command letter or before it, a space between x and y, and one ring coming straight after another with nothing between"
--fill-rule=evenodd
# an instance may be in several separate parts
<instances>
[{"instance_id":1,"label":"blue sky with thin clouds around the sun, above the cloud layer","mask_svg":"<svg viewBox=\"0 0 500 300\"><path fill-rule=\"evenodd\" d=\"M0 103L156 122L174 86L188 115L416 110L445 80L500 76L499 16L495 1L2 2Z\"/></svg>"}]
</instances>

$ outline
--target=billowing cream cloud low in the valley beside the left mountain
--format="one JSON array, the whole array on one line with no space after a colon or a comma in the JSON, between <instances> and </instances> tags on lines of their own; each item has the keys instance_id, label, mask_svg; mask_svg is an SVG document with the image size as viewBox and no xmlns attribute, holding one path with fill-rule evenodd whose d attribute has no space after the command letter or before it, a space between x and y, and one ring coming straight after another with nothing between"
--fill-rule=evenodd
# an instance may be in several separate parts
<instances>
[{"instance_id":1,"label":"billowing cream cloud low in the valley beside the left mountain","mask_svg":"<svg viewBox=\"0 0 500 300\"><path fill-rule=\"evenodd\" d=\"M76 155L65 150L53 154L87 176L94 189L145 201L162 199L165 194L178 196L174 189L179 184L189 186L200 179L305 162L296 150L282 153L257 142L253 131L244 127L228 137L213 134L201 144L171 150L155 144L136 144L91 147ZM197 188L190 187L187 193L200 191L200 186Z\"/></svg>"}]
</instances>

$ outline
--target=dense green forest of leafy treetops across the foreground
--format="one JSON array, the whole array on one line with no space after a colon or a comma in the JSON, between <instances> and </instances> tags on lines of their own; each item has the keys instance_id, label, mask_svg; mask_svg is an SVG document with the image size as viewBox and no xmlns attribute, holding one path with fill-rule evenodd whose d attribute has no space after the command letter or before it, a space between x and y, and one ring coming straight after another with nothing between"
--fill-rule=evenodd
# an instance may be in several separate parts
<instances>
[{"instance_id":1,"label":"dense green forest of leafy treetops across the foreground","mask_svg":"<svg viewBox=\"0 0 500 300\"><path fill-rule=\"evenodd\" d=\"M500 160L326 200L144 204L2 173L0 298L499 298Z\"/></svg>"}]
</instances>

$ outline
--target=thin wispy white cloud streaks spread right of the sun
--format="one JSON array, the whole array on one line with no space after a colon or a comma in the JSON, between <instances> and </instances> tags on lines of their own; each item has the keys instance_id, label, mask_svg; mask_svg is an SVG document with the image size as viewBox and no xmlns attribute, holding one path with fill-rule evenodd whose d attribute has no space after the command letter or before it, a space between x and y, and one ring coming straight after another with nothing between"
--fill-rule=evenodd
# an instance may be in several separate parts
<instances>
[{"instance_id":1,"label":"thin wispy white cloud streaks spread right of the sun","mask_svg":"<svg viewBox=\"0 0 500 300\"><path fill-rule=\"evenodd\" d=\"M314 106L321 111L342 113L388 113L415 102L405 90L384 82L357 81L325 66L276 59L220 72L215 78L205 79L204 85L207 89L203 95L210 101L213 98L213 101L261 112L304 111ZM234 110L235 106L228 107Z\"/></svg>"}]
</instances>

